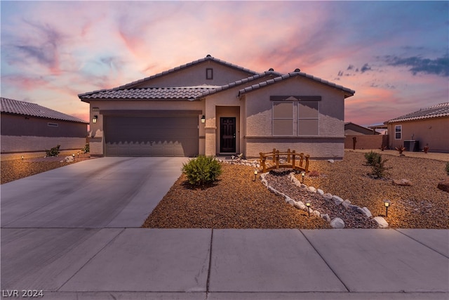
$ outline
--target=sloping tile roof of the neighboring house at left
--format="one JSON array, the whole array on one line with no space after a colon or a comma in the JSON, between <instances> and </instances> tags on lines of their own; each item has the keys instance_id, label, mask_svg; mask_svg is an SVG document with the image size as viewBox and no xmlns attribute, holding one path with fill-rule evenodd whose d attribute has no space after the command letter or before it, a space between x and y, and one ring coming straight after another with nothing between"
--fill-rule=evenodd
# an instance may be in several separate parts
<instances>
[{"instance_id":1,"label":"sloping tile roof of the neighboring house at left","mask_svg":"<svg viewBox=\"0 0 449 300\"><path fill-rule=\"evenodd\" d=\"M0 109L2 113L88 124L88 122L82 119L63 114L62 112L57 112L56 110L51 110L50 108L43 107L36 103L8 98L0 98L0 100Z\"/></svg>"}]
</instances>

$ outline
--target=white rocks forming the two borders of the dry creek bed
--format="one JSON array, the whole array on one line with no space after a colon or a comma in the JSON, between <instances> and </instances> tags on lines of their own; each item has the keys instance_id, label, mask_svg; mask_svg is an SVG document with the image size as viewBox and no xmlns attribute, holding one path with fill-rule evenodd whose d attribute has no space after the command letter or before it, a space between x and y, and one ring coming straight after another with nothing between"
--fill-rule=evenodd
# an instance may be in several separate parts
<instances>
[{"instance_id":1,"label":"white rocks forming the two borders of the dry creek bed","mask_svg":"<svg viewBox=\"0 0 449 300\"><path fill-rule=\"evenodd\" d=\"M246 164L246 163L243 163L243 164ZM249 165L252 165L252 164L249 164ZM256 166L254 165L253 167L256 167ZM267 179L265 179L265 176L267 176L267 174L269 174L269 173L267 172L267 173L260 174L260 180L262 181L262 184L265 185L265 187L267 187L267 189L270 192L274 193L274 195L283 197L284 200L288 204L290 204L293 207L296 207L297 209L301 209L304 211L308 210L308 208L306 207L304 202L296 201L296 200L292 199L291 197L289 197L288 195L279 192L279 190L276 190L271 185L269 185ZM338 197L336 195L331 195L330 193L324 193L323 190L320 190L320 189L317 190L313 186L308 187L304 183L300 183L300 181L295 177L295 172L291 172L290 174L288 174L288 178L290 179L290 182L293 183L298 188L303 188L304 190L308 190L311 193L317 193L317 194L321 195L321 197L323 197L324 199L326 199L328 201L333 200L335 205L341 204L346 209L353 209L355 211L358 211L361 214L365 214L365 216L368 218L371 218L373 216L373 214L371 214L371 211L368 209L368 207L358 207L356 205L352 205L351 201L349 201L349 200L343 200L341 197ZM314 209L310 209L310 214L325 219L326 221L328 221L330 223L330 226L332 226L332 228L344 228L344 221L340 218L334 218L331 220L328 214L321 214L320 211L317 211ZM375 218L373 218L373 220L377 222L378 228L387 228L388 227L387 221L385 221L385 219L382 218L382 216L376 216Z\"/></svg>"}]
</instances>

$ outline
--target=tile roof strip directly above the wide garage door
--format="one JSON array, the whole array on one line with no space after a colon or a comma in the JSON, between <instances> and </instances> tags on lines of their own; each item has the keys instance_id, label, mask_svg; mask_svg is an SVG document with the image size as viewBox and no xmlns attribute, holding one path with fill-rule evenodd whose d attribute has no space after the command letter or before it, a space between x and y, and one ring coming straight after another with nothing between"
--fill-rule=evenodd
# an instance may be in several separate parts
<instances>
[{"instance_id":1,"label":"tile roof strip directly above the wide garage door","mask_svg":"<svg viewBox=\"0 0 449 300\"><path fill-rule=\"evenodd\" d=\"M203 93L217 89L218 86L186 86L168 88L131 88L131 89L109 89L94 91L79 95L81 100L89 99L134 99L134 100L159 100L180 99L196 100Z\"/></svg>"}]
</instances>

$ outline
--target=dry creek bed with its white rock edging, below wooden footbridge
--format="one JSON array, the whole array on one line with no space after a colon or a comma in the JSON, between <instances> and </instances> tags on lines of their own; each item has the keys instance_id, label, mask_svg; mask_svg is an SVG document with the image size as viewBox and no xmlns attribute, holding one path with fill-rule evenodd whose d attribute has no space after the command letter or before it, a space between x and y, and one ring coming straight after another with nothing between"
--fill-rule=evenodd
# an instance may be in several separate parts
<instances>
[{"instance_id":1,"label":"dry creek bed with its white rock edging, below wooden footbridge","mask_svg":"<svg viewBox=\"0 0 449 300\"><path fill-rule=\"evenodd\" d=\"M381 216L377 216L372 219L373 215L367 207L358 207L351 204L349 200L343 200L337 195L324 193L323 190L300 183L300 181L295 177L295 172L291 172L288 174L288 185L282 182L274 182L276 181L274 179L275 177L282 176L286 176L286 171L272 171L271 173L260 174L260 180L269 191L271 191L275 195L283 197L284 200L291 206L297 209L302 209L304 211L309 210L311 216L318 216L325 219L333 228L388 227L387 221L385 221L385 219ZM274 188L273 185L277 185L276 188ZM283 192L279 191L281 190L281 188ZM298 198L301 198L302 200L299 200ZM307 198L307 200L304 200L305 198ZM311 207L307 207L306 204L304 204L304 201L313 203L313 207L318 207L318 209L311 209ZM328 210L332 212L330 213L328 212ZM333 215L332 218L330 214ZM340 218L340 216L338 216L339 214L344 215L345 218ZM345 224L342 218L351 219L351 224Z\"/></svg>"}]
</instances>

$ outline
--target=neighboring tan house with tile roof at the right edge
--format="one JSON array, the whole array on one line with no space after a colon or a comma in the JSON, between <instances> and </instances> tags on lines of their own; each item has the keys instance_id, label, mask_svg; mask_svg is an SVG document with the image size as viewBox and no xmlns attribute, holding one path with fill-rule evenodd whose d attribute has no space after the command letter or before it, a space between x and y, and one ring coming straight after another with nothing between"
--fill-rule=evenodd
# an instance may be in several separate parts
<instances>
[{"instance_id":1,"label":"neighboring tan house with tile roof at the right edge","mask_svg":"<svg viewBox=\"0 0 449 300\"><path fill-rule=\"evenodd\" d=\"M385 122L389 145L429 146L431 152L449 152L449 103L440 103Z\"/></svg>"}]
</instances>

